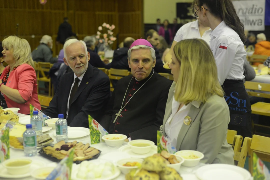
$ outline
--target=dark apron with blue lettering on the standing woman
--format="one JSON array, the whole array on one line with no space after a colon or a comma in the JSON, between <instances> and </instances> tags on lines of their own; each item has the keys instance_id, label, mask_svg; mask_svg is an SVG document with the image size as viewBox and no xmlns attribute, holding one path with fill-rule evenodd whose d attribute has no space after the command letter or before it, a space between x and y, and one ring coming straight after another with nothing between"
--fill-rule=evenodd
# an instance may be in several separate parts
<instances>
[{"instance_id":1,"label":"dark apron with blue lettering on the standing woman","mask_svg":"<svg viewBox=\"0 0 270 180\"><path fill-rule=\"evenodd\" d=\"M242 80L226 79L222 85L225 100L229 106L231 121L229 130L237 131L237 135L252 137L251 105L248 93Z\"/></svg>"}]
</instances>

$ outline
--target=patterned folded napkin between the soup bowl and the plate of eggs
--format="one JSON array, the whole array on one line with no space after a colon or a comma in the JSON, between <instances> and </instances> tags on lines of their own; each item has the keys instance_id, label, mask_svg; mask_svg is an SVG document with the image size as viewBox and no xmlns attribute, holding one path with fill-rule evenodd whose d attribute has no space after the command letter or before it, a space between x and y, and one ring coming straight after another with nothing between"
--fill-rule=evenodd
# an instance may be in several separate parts
<instances>
[{"instance_id":1,"label":"patterned folded napkin between the soup bowl and the plate of eggs","mask_svg":"<svg viewBox=\"0 0 270 180\"><path fill-rule=\"evenodd\" d=\"M47 176L46 180L70 180L74 153L75 148L58 163L56 168Z\"/></svg>"}]
</instances>

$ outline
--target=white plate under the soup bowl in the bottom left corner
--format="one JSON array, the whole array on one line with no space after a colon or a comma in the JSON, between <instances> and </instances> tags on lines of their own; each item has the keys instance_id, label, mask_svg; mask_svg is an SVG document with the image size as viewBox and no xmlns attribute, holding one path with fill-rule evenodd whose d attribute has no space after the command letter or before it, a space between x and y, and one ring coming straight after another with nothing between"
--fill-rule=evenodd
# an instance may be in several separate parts
<instances>
[{"instance_id":1,"label":"white plate under the soup bowl in the bottom left corner","mask_svg":"<svg viewBox=\"0 0 270 180\"><path fill-rule=\"evenodd\" d=\"M45 162L33 160L32 164L30 166L30 169L33 170L33 169L44 167L44 166L46 166ZM22 174L22 175L10 175L10 174L8 174L8 171L6 170L6 168L2 164L0 164L0 169L1 169L1 173L0 173L1 178L17 179L17 178L25 178L25 177L31 176L30 172L26 173L26 174Z\"/></svg>"}]
</instances>

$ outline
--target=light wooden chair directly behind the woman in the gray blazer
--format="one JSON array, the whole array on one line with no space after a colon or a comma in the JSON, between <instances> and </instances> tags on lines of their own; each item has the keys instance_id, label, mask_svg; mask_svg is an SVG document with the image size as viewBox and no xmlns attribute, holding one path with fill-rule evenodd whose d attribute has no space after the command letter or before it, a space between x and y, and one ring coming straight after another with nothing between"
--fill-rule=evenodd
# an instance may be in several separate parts
<instances>
[{"instance_id":1,"label":"light wooden chair directly behind the woman in the gray blazer","mask_svg":"<svg viewBox=\"0 0 270 180\"><path fill-rule=\"evenodd\" d=\"M243 137L236 135L237 131L227 130L227 142L231 144L234 149L234 162L235 165L244 168L246 157L248 154L248 139L245 138L241 148Z\"/></svg>"}]
</instances>

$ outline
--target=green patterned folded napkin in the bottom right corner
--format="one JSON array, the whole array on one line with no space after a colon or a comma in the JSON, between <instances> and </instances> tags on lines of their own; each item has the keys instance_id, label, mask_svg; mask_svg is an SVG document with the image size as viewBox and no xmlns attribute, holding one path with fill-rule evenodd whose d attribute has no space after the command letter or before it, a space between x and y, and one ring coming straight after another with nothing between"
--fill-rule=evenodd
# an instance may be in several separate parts
<instances>
[{"instance_id":1,"label":"green patterned folded napkin in the bottom right corner","mask_svg":"<svg viewBox=\"0 0 270 180\"><path fill-rule=\"evenodd\" d=\"M269 180L270 171L262 162L262 160L253 152L253 179L254 180Z\"/></svg>"}]
</instances>

